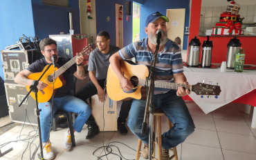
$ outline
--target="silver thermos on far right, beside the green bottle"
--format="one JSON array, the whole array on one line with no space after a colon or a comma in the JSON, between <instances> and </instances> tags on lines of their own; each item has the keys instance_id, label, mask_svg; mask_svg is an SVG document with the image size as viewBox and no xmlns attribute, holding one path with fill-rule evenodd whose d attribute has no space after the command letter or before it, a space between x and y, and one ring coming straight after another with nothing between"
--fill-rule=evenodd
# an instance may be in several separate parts
<instances>
[{"instance_id":1,"label":"silver thermos on far right, beside the green bottle","mask_svg":"<svg viewBox=\"0 0 256 160\"><path fill-rule=\"evenodd\" d=\"M241 43L237 37L234 37L233 39L230 39L228 42L228 53L227 53L227 68L228 69L234 69L235 68L235 55L237 54L237 51L241 47Z\"/></svg>"}]
</instances>

